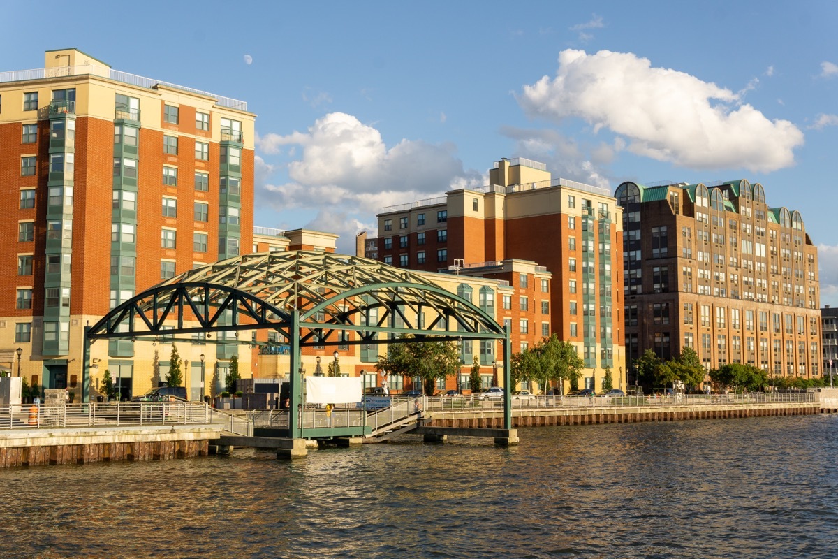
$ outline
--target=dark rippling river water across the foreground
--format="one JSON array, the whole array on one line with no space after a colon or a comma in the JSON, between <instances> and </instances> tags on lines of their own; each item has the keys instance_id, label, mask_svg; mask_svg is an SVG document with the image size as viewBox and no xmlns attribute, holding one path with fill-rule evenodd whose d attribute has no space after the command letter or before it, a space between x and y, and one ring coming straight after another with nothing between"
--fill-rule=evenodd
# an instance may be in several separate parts
<instances>
[{"instance_id":1,"label":"dark rippling river water across the foreground","mask_svg":"<svg viewBox=\"0 0 838 559\"><path fill-rule=\"evenodd\" d=\"M0 557L835 557L838 416L0 471Z\"/></svg>"}]
</instances>

